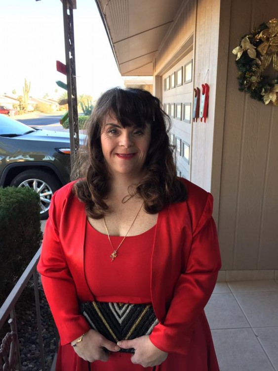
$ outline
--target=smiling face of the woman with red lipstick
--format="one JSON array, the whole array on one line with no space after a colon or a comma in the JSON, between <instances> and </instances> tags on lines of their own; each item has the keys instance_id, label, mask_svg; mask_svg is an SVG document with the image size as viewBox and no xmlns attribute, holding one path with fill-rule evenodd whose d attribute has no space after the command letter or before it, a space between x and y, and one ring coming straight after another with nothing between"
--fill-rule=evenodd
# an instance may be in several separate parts
<instances>
[{"instance_id":1,"label":"smiling face of the woman with red lipstick","mask_svg":"<svg viewBox=\"0 0 278 371\"><path fill-rule=\"evenodd\" d=\"M112 175L140 177L151 142L151 128L123 128L113 114L107 115L101 132L101 147Z\"/></svg>"}]
</instances>

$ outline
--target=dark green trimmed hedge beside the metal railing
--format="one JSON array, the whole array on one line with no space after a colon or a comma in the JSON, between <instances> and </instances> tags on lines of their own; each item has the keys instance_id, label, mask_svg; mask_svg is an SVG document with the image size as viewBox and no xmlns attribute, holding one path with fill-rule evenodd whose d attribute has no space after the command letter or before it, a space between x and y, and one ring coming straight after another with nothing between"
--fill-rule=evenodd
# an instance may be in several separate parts
<instances>
[{"instance_id":1,"label":"dark green trimmed hedge beside the metal railing","mask_svg":"<svg viewBox=\"0 0 278 371\"><path fill-rule=\"evenodd\" d=\"M0 305L40 248L39 201L32 189L0 187Z\"/></svg>"}]
</instances>

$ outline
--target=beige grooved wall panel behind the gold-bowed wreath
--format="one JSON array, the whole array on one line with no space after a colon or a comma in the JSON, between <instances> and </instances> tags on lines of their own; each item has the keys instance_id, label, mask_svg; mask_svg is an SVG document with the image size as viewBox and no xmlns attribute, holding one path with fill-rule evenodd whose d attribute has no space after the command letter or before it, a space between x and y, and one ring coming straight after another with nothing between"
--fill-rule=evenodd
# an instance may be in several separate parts
<instances>
[{"instance_id":1,"label":"beige grooved wall panel behind the gold-bowed wreath","mask_svg":"<svg viewBox=\"0 0 278 371\"><path fill-rule=\"evenodd\" d=\"M278 269L278 107L238 92L232 54L241 36L274 17L277 0L232 0L226 17L230 44L218 222L225 270Z\"/></svg>"}]
</instances>

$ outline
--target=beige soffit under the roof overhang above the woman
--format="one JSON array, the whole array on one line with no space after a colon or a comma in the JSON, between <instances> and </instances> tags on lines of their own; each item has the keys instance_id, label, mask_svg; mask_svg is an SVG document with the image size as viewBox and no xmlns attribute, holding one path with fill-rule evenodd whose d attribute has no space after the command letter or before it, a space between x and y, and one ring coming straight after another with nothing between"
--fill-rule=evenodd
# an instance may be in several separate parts
<instances>
[{"instance_id":1,"label":"beige soffit under the roof overhang above the woman","mask_svg":"<svg viewBox=\"0 0 278 371\"><path fill-rule=\"evenodd\" d=\"M183 0L95 0L122 76L152 76Z\"/></svg>"}]
</instances>

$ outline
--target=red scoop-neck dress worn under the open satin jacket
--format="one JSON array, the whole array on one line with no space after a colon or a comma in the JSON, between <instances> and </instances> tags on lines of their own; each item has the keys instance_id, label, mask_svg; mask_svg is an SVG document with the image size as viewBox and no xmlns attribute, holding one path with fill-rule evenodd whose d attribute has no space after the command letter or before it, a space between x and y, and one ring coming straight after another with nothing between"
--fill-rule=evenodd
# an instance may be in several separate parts
<instances>
[{"instance_id":1,"label":"red scoop-neck dress worn under the open satin jacket","mask_svg":"<svg viewBox=\"0 0 278 371\"><path fill-rule=\"evenodd\" d=\"M106 234L97 232L89 222L86 223L84 270L85 277L97 301L123 303L151 303L151 255L155 237L155 227L136 236L126 237L118 250L117 258L111 262L112 247ZM123 237L110 236L113 248L119 246ZM149 262L149 264L146 264ZM109 275L107 274L109 272ZM167 359L155 368L155 371L206 371L207 349L205 336L198 339L198 351L203 348L202 357L195 354L194 348L189 357L169 353ZM61 347L58 354L58 370L66 371L71 345ZM69 353L68 353L69 351ZM90 364L75 357L76 371L153 371L153 367L143 368L130 361L130 354L110 353L108 362L95 361ZM181 365L183 367L181 368ZM66 366L67 367L67 366Z\"/></svg>"}]
</instances>

